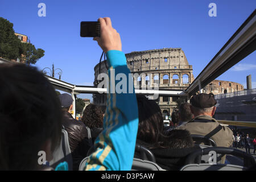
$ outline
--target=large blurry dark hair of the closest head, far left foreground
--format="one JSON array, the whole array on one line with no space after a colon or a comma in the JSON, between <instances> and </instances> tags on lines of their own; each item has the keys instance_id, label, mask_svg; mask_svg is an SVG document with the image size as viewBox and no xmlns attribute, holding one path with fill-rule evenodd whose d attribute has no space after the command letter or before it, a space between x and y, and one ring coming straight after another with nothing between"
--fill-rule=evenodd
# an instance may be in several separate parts
<instances>
[{"instance_id":1,"label":"large blurry dark hair of the closest head, far left foreground","mask_svg":"<svg viewBox=\"0 0 256 182\"><path fill-rule=\"evenodd\" d=\"M38 152L61 139L59 98L43 73L25 64L0 65L0 170L34 170Z\"/></svg>"}]
</instances>

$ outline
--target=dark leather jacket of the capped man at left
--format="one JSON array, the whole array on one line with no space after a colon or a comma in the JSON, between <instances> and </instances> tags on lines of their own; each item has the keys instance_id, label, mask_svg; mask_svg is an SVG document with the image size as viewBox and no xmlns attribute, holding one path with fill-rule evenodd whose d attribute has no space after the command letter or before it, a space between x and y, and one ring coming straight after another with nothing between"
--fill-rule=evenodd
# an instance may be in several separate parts
<instances>
[{"instance_id":1,"label":"dark leather jacket of the capped man at left","mask_svg":"<svg viewBox=\"0 0 256 182\"><path fill-rule=\"evenodd\" d=\"M68 132L69 146L73 158L73 170L76 171L79 169L81 160L86 157L92 144L90 139L88 139L88 131L84 123L74 119L67 111L64 112L62 124Z\"/></svg>"}]
</instances>

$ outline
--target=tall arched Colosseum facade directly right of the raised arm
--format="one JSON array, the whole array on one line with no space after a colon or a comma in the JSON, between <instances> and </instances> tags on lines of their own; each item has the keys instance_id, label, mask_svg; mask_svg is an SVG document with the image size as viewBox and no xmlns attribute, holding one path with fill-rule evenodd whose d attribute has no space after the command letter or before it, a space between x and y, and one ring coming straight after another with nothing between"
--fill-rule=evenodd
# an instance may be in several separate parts
<instances>
[{"instance_id":1,"label":"tall arched Colosseum facade directly right of the raised arm","mask_svg":"<svg viewBox=\"0 0 256 182\"><path fill-rule=\"evenodd\" d=\"M127 66L134 73L134 86L157 84L159 89L185 90L195 80L181 48L163 48L126 54ZM137 73L137 75L135 75ZM163 114L172 113L179 97L159 97Z\"/></svg>"}]
</instances>

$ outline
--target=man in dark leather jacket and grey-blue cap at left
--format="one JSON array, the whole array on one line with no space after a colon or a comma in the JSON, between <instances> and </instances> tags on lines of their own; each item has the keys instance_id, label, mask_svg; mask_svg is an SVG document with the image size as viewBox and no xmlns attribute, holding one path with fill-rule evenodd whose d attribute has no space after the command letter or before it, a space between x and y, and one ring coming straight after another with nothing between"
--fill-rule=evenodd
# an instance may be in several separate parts
<instances>
[{"instance_id":1,"label":"man in dark leather jacket and grey-blue cap at left","mask_svg":"<svg viewBox=\"0 0 256 182\"><path fill-rule=\"evenodd\" d=\"M88 138L88 130L84 123L77 121L71 115L73 98L67 93L59 95L60 104L64 111L62 124L68 132L68 140L73 158L73 170L78 171L79 164L86 157L92 141Z\"/></svg>"}]
</instances>

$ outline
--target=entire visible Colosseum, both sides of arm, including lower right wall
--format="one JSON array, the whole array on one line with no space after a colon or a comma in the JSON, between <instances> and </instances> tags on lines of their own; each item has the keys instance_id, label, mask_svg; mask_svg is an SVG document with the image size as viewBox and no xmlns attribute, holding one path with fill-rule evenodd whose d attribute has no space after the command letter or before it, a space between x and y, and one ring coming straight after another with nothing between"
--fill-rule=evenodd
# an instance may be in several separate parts
<instances>
[{"instance_id":1,"label":"entire visible Colosseum, both sides of arm, including lower right wall","mask_svg":"<svg viewBox=\"0 0 256 182\"><path fill-rule=\"evenodd\" d=\"M157 84L159 89L185 90L195 80L192 65L188 64L185 53L181 48L163 48L149 51L131 52L126 54L127 66L134 74L134 87L146 88ZM100 82L98 74L106 73L108 64L102 61L94 67L94 86ZM135 74L137 73L137 74ZM214 80L205 88L204 93L229 93L243 90L243 86L236 82ZM177 107L179 97L158 97L163 115L172 113ZM104 94L94 94L93 102L105 105Z\"/></svg>"}]
</instances>

